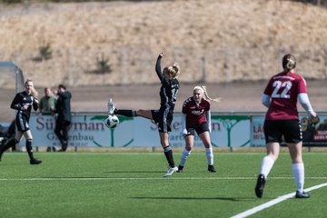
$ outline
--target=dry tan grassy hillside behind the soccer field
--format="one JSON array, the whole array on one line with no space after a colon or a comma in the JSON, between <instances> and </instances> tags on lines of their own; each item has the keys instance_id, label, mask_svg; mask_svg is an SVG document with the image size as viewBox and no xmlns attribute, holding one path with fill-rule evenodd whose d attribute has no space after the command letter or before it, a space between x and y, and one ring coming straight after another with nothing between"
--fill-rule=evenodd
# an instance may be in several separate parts
<instances>
[{"instance_id":1,"label":"dry tan grassy hillside behind the soccer field","mask_svg":"<svg viewBox=\"0 0 327 218\"><path fill-rule=\"evenodd\" d=\"M180 80L267 79L293 53L298 73L326 79L327 10L268 0L146 1L0 6L0 60L35 85L154 84L154 63L177 62ZM41 46L52 58L38 61ZM97 58L111 74L96 74ZM9 85L0 83L3 87Z\"/></svg>"}]
</instances>

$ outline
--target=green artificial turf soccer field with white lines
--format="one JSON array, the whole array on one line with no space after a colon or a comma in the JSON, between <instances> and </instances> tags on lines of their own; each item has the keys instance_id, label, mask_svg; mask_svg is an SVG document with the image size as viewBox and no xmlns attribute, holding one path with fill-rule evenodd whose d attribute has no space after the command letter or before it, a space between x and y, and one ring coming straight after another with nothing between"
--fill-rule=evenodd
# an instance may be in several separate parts
<instances>
[{"instance_id":1,"label":"green artificial turf soccer field with white lines","mask_svg":"<svg viewBox=\"0 0 327 218\"><path fill-rule=\"evenodd\" d=\"M163 178L162 153L5 153L0 217L232 217L295 191L291 158L282 153L262 199L253 192L263 153L215 153L217 173L193 153L183 173ZM175 153L178 164L180 153ZM327 183L327 154L304 153L305 188ZM286 198L250 217L326 217L327 186L310 199ZM236 216L237 217L237 216ZM239 216L241 217L241 216Z\"/></svg>"}]
</instances>

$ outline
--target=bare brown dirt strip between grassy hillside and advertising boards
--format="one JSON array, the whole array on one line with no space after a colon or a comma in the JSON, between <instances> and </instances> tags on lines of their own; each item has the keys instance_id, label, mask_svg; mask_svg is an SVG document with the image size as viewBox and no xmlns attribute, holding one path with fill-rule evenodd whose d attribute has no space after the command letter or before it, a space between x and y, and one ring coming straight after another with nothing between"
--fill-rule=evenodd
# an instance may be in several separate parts
<instances>
[{"instance_id":1,"label":"bare brown dirt strip between grassy hillside and advertising boards","mask_svg":"<svg viewBox=\"0 0 327 218\"><path fill-rule=\"evenodd\" d=\"M183 100L192 95L196 84L181 84L176 112L182 109ZM212 103L212 112L265 111L261 104L264 82L235 82L231 84L206 84L211 97L222 97L220 103ZM307 81L308 93L316 111L327 111L325 81ZM111 97L118 108L156 109L159 107L160 84L122 85L122 86L80 86L68 89L73 94L73 111L106 111L106 102ZM37 88L40 95L42 88ZM0 88L0 122L9 122L15 117L15 111L9 108L15 91ZM302 108L300 111L302 111Z\"/></svg>"}]
</instances>

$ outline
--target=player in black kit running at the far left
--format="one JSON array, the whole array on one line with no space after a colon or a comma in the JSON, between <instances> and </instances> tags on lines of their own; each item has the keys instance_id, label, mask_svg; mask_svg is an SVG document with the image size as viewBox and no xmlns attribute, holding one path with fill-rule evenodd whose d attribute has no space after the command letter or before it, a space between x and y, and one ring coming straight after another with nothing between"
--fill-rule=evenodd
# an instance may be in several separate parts
<instances>
[{"instance_id":1,"label":"player in black kit running at the far left","mask_svg":"<svg viewBox=\"0 0 327 218\"><path fill-rule=\"evenodd\" d=\"M31 116L32 107L36 111L38 108L37 92L34 88L32 80L26 80L25 82L25 91L15 94L15 98L10 105L11 108L17 110L15 124L17 127L17 132L15 137L8 140L4 146L0 148L0 160L2 154L5 150L14 147L15 144L18 144L22 136L25 136L26 139L26 151L30 158L31 164L39 164L42 161L35 159L33 155L32 141L33 136L29 128L29 118Z\"/></svg>"}]
</instances>

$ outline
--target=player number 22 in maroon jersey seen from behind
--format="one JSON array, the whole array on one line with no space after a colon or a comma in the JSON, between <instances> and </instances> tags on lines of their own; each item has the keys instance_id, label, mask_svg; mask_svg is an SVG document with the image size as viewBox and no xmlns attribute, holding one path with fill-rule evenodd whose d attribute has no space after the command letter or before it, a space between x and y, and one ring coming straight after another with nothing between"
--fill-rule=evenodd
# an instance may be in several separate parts
<instances>
[{"instance_id":1,"label":"player number 22 in maroon jersey seen from behind","mask_svg":"<svg viewBox=\"0 0 327 218\"><path fill-rule=\"evenodd\" d=\"M292 174L296 184L295 197L310 197L309 193L303 191L302 129L296 108L297 101L310 114L310 119L317 118L317 114L310 104L304 78L294 73L295 66L295 57L292 54L284 55L283 71L272 76L263 92L262 102L268 108L263 124L267 155L263 157L254 189L258 198L263 196L265 181L280 153L282 137L292 158Z\"/></svg>"}]
</instances>

